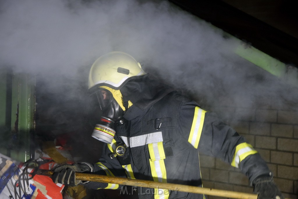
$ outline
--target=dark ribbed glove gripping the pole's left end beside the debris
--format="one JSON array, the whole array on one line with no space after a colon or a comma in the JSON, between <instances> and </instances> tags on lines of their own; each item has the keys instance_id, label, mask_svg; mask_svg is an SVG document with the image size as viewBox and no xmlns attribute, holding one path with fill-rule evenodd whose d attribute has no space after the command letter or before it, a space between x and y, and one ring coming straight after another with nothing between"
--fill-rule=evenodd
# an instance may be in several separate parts
<instances>
[{"instance_id":1,"label":"dark ribbed glove gripping the pole's left end beside the debris","mask_svg":"<svg viewBox=\"0 0 298 199\"><path fill-rule=\"evenodd\" d=\"M80 183L86 183L76 180L75 172L93 172L93 166L85 162L78 164L63 164L54 169L54 174L51 178L54 183L61 183L68 186L77 186Z\"/></svg>"}]
</instances>

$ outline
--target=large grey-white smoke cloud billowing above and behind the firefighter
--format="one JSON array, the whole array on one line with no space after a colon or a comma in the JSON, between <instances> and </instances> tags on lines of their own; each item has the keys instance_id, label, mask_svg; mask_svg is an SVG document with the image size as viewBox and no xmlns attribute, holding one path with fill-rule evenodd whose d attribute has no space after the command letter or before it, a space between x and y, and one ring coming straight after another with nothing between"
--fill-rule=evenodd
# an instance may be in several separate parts
<instances>
[{"instance_id":1,"label":"large grey-white smoke cloud billowing above and behind the firefighter","mask_svg":"<svg viewBox=\"0 0 298 199\"><path fill-rule=\"evenodd\" d=\"M110 51L131 54L211 109L297 103L297 88L233 53L240 41L168 1L2 0L0 7L0 66L36 75L40 92L65 106L77 107L91 64Z\"/></svg>"}]
</instances>

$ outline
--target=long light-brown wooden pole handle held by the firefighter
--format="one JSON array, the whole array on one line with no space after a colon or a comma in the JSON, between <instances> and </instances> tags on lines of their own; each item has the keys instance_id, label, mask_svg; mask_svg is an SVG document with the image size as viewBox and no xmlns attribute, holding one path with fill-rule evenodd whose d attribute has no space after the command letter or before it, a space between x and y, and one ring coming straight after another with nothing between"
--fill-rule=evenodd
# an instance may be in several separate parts
<instances>
[{"instance_id":1,"label":"long light-brown wooden pole handle held by the firefighter","mask_svg":"<svg viewBox=\"0 0 298 199\"><path fill-rule=\"evenodd\" d=\"M39 169L37 174L51 176L53 174L53 171ZM97 174L80 173L80 172L75 172L75 175L76 175L76 179L81 181L93 181L93 182L103 182L103 183L112 183L112 184L122 184L122 185L128 185L128 186L168 189L168 190L180 191L180 192L213 195L213 196L219 196L224 198L257 199L258 197L257 194L226 191L221 189L202 188L197 186L174 184L174 183L161 183L161 182L154 182L154 181L148 181L148 180L120 178L115 176L97 175Z\"/></svg>"}]
</instances>

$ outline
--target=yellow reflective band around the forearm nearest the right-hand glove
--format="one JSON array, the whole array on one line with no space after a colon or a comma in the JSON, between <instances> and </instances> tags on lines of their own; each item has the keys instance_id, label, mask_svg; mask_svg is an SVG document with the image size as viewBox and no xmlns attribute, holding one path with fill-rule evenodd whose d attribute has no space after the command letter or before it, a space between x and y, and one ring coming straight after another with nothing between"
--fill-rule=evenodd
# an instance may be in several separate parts
<instances>
[{"instance_id":1,"label":"yellow reflective band around the forearm nearest the right-hand glove","mask_svg":"<svg viewBox=\"0 0 298 199\"><path fill-rule=\"evenodd\" d=\"M243 161L247 156L257 153L256 150L252 147L251 144L243 142L236 146L235 154L233 161L231 163L232 166L238 168L239 163Z\"/></svg>"}]
</instances>

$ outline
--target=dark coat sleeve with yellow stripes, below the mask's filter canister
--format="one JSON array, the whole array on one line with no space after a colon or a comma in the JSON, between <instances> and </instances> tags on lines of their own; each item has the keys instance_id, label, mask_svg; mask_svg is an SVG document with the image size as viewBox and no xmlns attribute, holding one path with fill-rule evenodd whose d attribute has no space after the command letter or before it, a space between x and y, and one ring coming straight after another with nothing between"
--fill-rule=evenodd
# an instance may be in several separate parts
<instances>
[{"instance_id":1,"label":"dark coat sleeve with yellow stripes, below the mask's filter canister","mask_svg":"<svg viewBox=\"0 0 298 199\"><path fill-rule=\"evenodd\" d=\"M101 158L97 163L93 164L94 174L108 175L126 178L125 169L120 165L117 158L111 159L109 154L113 150L112 144L104 144ZM121 189L123 185L113 183L102 183L102 182L88 182L83 184L89 189Z\"/></svg>"}]
</instances>

